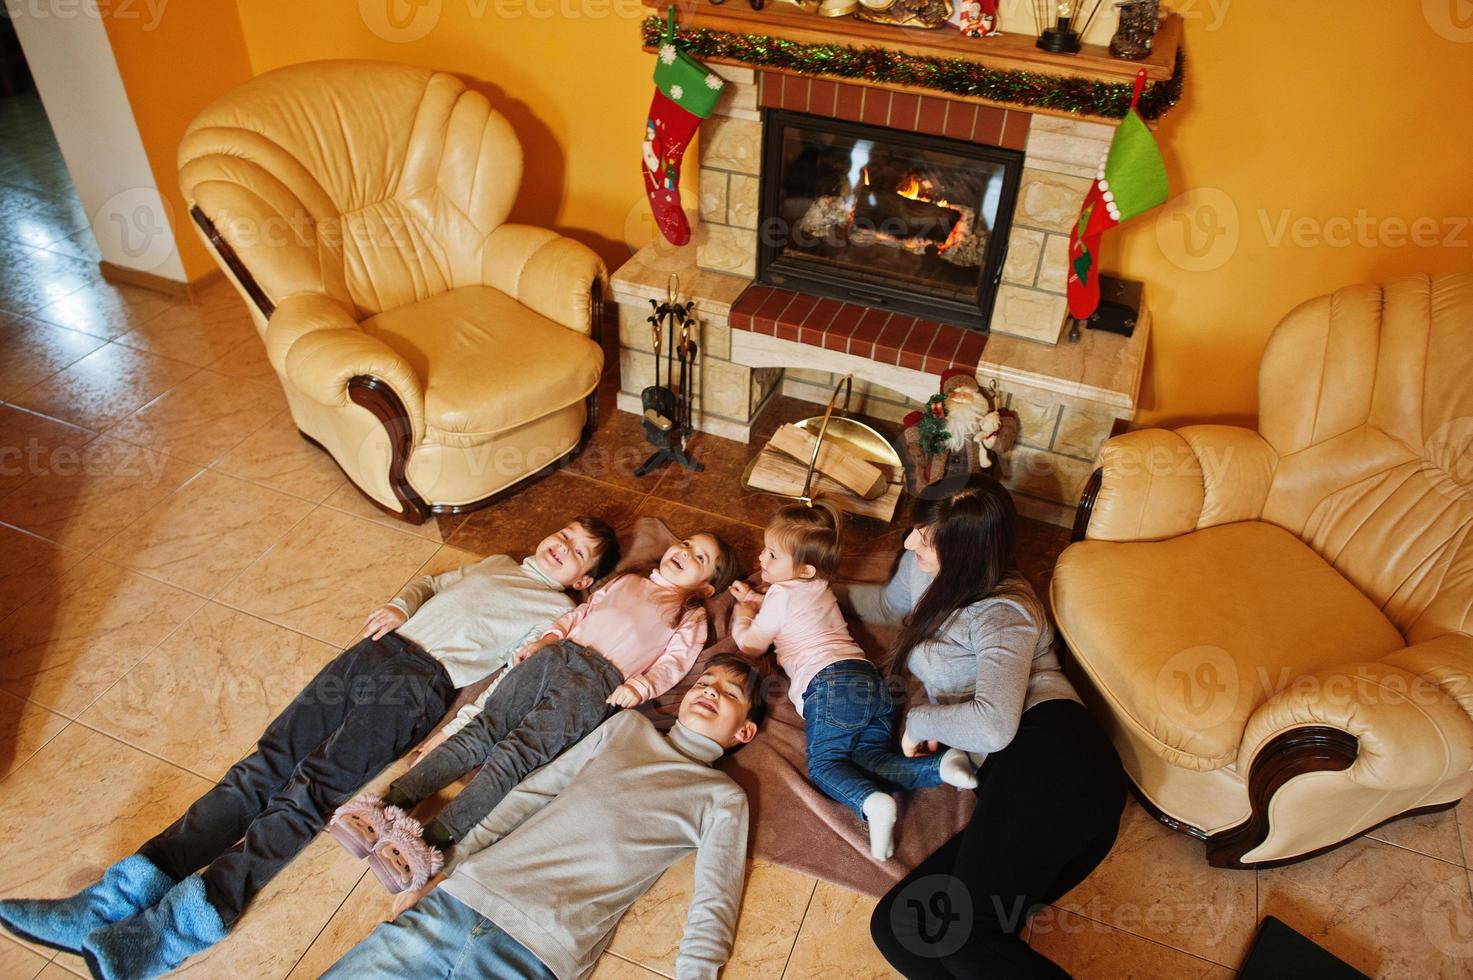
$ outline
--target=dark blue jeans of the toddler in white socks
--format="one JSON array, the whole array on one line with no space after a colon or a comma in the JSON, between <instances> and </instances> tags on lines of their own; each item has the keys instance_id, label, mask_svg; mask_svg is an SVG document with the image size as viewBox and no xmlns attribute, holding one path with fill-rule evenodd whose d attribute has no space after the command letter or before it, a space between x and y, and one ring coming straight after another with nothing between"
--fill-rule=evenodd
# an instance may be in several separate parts
<instances>
[{"instance_id":1,"label":"dark blue jeans of the toddler in white socks","mask_svg":"<svg viewBox=\"0 0 1473 980\"><path fill-rule=\"evenodd\" d=\"M865 816L871 793L941 784L938 755L900 753L900 709L869 660L831 663L803 693L803 722L813 785Z\"/></svg>"}]
</instances>

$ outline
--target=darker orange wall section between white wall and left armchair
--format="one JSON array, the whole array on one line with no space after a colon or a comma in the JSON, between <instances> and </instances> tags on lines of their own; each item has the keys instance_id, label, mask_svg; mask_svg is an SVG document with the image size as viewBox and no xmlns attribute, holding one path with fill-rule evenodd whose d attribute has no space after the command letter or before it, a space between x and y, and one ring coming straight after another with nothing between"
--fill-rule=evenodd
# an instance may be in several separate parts
<instances>
[{"instance_id":1,"label":"darker orange wall section between white wall and left armchair","mask_svg":"<svg viewBox=\"0 0 1473 980\"><path fill-rule=\"evenodd\" d=\"M174 240L190 280L215 261L190 228L178 186L180 137L212 99L250 78L234 0L105 3L108 40L149 156L159 193L171 206Z\"/></svg>"}]
</instances>

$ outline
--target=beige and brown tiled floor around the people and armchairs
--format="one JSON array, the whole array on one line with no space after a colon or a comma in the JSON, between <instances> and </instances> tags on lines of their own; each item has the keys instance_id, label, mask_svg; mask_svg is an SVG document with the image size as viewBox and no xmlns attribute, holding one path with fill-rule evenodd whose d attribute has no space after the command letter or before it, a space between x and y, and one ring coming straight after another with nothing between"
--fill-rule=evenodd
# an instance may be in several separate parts
<instances>
[{"instance_id":1,"label":"beige and brown tiled floor around the people and armchairs","mask_svg":"<svg viewBox=\"0 0 1473 980\"><path fill-rule=\"evenodd\" d=\"M714 526L754 554L773 503L738 491L747 447L703 436L704 473L636 477L639 426L611 410L576 463L502 504L423 528L384 519L298 438L234 293L109 286L88 242L38 105L0 99L0 896L71 892L130 853L420 572L518 553L577 510ZM763 427L809 410L778 402ZM1040 585L1062 545L1027 526ZM1226 977L1274 914L1367 973L1467 976L1470 859L1463 808L1292 868L1215 871L1131 805L1108 862L1030 940L1078 976ZM670 976L689 890L686 862L597 976ZM891 976L871 908L756 864L726 976ZM386 909L362 864L321 840L190 968L315 977ZM71 973L85 973L75 958L0 937L0 977Z\"/></svg>"}]
</instances>

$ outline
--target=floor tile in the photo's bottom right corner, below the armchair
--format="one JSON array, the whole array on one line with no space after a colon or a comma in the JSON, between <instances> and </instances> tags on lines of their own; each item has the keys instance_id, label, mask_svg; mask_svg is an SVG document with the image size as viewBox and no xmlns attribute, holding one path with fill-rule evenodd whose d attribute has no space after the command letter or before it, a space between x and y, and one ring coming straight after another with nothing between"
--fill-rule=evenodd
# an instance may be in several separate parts
<instances>
[{"instance_id":1,"label":"floor tile in the photo's bottom right corner, below the armchair","mask_svg":"<svg viewBox=\"0 0 1473 980\"><path fill-rule=\"evenodd\" d=\"M1401 847L1357 840L1261 871L1258 912L1374 977L1473 973L1467 871Z\"/></svg>"}]
</instances>

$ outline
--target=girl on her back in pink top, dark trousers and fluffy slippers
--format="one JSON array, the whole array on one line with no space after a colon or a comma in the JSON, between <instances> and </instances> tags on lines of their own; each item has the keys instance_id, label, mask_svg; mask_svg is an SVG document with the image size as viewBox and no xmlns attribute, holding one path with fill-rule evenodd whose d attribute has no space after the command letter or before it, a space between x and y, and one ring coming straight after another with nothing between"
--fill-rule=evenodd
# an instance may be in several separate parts
<instances>
[{"instance_id":1,"label":"girl on her back in pink top, dark trousers and fluffy slippers","mask_svg":"<svg viewBox=\"0 0 1473 980\"><path fill-rule=\"evenodd\" d=\"M480 713L430 743L382 800L346 805L340 813L352 819L334 821L334 836L368 853L390 892L423 886L439 869L440 850L480 824L532 769L617 709L675 687L706 644L701 600L735 578L731 547L698 533L670 545L650 572L608 582L517 653L517 666L491 688ZM476 778L433 822L421 828L405 816L476 766Z\"/></svg>"}]
</instances>

